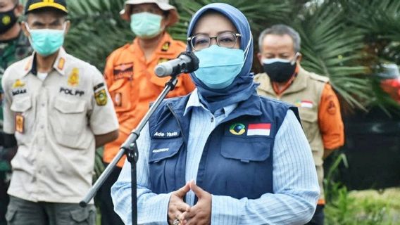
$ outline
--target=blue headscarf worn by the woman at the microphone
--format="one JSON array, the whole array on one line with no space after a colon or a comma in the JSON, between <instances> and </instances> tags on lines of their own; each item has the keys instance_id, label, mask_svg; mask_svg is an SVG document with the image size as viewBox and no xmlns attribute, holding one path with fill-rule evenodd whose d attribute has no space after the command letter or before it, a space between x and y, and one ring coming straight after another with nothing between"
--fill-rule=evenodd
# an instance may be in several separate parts
<instances>
[{"instance_id":1,"label":"blue headscarf worn by the woman at the microphone","mask_svg":"<svg viewBox=\"0 0 400 225\"><path fill-rule=\"evenodd\" d=\"M206 105L206 107L214 112L219 108L223 108L227 105L232 105L233 103L239 103L241 101L246 101L252 94L256 93L257 85L253 82L254 74L250 72L251 65L253 64L253 38L251 35L250 25L246 17L237 8L223 3L213 3L200 8L190 21L189 28L187 30L187 37L192 36L194 26L196 25L201 15L206 13L206 11L216 11L225 15L230 22L235 25L239 34L242 34L240 38L240 49L243 51L246 49L250 41L250 46L246 54L246 61L244 62L242 70L239 75L235 77L235 80L227 86L225 89L211 89L206 84L197 79L196 75L192 72L190 76L194 84L196 84L199 90L199 96L201 102ZM190 51L191 46L187 46Z\"/></svg>"}]
</instances>

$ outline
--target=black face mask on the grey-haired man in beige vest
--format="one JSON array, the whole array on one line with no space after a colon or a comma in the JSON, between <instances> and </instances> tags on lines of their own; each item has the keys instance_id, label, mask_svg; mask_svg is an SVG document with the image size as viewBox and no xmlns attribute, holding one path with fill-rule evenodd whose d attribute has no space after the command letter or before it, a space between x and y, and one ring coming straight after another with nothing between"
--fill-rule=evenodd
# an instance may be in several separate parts
<instances>
[{"instance_id":1,"label":"black face mask on the grey-haired man in beige vest","mask_svg":"<svg viewBox=\"0 0 400 225\"><path fill-rule=\"evenodd\" d=\"M294 75L296 65L296 62L282 62L279 60L273 63L263 63L263 69L272 82L283 83Z\"/></svg>"}]
</instances>

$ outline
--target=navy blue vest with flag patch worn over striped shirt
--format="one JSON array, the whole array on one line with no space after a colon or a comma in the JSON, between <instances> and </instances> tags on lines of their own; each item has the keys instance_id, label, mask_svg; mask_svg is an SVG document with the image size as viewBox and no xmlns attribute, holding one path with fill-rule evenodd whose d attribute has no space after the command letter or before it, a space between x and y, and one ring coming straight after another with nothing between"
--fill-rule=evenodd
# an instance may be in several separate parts
<instances>
[{"instance_id":1,"label":"navy blue vest with flag patch worn over striped shirt","mask_svg":"<svg viewBox=\"0 0 400 225\"><path fill-rule=\"evenodd\" d=\"M154 193L170 193L185 186L191 113L183 114L188 99L163 101L149 120L147 157ZM257 95L239 103L208 136L196 184L213 195L237 199L273 193L273 145L289 109L298 117L297 108Z\"/></svg>"}]
</instances>

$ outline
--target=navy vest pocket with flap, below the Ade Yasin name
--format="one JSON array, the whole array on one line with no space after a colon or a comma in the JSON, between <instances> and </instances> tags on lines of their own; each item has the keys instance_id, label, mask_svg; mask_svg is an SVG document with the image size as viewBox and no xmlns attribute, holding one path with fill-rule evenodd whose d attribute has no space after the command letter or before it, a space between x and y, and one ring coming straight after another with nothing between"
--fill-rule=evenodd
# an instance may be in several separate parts
<instances>
[{"instance_id":1,"label":"navy vest pocket with flap, below the Ade Yasin name","mask_svg":"<svg viewBox=\"0 0 400 225\"><path fill-rule=\"evenodd\" d=\"M168 193L175 189L175 172L180 172L177 166L186 163L180 162L177 154L182 144L182 138L151 139L149 173L154 193Z\"/></svg>"}]
</instances>

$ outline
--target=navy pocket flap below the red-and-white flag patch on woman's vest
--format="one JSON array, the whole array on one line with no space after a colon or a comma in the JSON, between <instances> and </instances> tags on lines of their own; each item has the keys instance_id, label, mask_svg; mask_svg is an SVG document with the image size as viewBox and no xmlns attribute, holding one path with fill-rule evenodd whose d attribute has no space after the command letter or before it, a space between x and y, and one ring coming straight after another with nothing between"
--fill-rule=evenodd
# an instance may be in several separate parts
<instances>
[{"instance_id":1,"label":"navy pocket flap below the red-and-white flag patch on woman's vest","mask_svg":"<svg viewBox=\"0 0 400 225\"><path fill-rule=\"evenodd\" d=\"M224 158L240 160L242 162L261 162L270 156L272 141L273 139L239 139L225 137L223 138L221 155L223 155Z\"/></svg>"}]
</instances>

